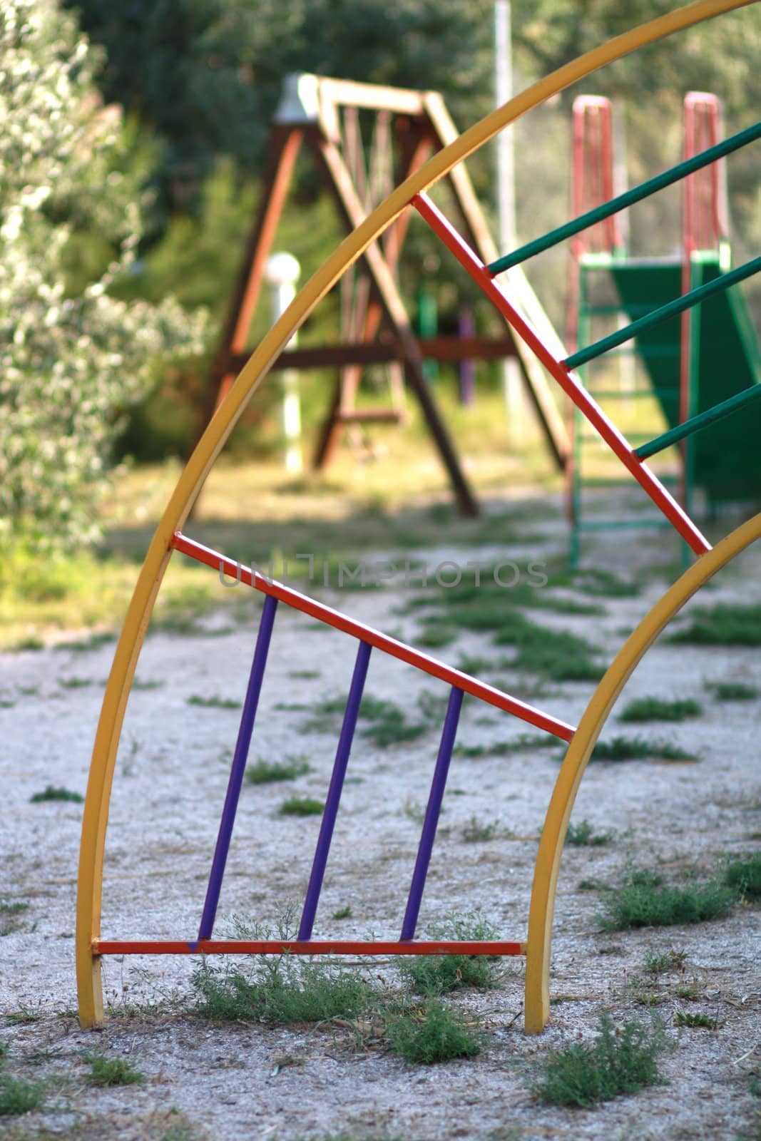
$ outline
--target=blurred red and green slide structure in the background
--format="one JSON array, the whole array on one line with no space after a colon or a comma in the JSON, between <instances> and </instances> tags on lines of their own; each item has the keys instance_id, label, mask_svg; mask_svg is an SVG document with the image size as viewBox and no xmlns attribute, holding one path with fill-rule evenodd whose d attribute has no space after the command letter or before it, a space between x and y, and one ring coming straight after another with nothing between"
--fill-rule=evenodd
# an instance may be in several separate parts
<instances>
[{"instance_id":1,"label":"blurred red and green slide structure in the background","mask_svg":"<svg viewBox=\"0 0 761 1141\"><path fill-rule=\"evenodd\" d=\"M754 141L756 127L722 139L721 105L714 95L691 91L685 98L685 156L681 163L614 199L613 113L608 99L580 96L574 103L573 205L574 213L589 220L569 243L568 340L570 348L588 343L600 321L609 326L633 322L629 343L614 347L622 370L620 387L612 382L610 353L575 356L586 389L617 419L637 413L642 402L656 403L670 429L694 416L706 414L704 423L717 419L711 410L722 398L750 393L761 380L761 357L743 296L727 288L730 268L724 156ZM674 184L682 186L681 253L675 257L632 258L628 254L621 225L626 205ZM751 265L750 273L754 269ZM745 274L736 276L739 281ZM714 284L712 284L714 283ZM613 285L598 300L600 286ZM715 288L714 288L715 286ZM705 289L696 305L680 311L678 299ZM701 301L701 298L703 300ZM669 307L671 308L664 308ZM650 314L661 310L657 323ZM601 346L612 347L605 338ZM635 361L643 365L639 383ZM596 365L602 367L598 371ZM642 372L645 375L642 375ZM743 402L744 403L743 398ZM734 407L734 405L732 405ZM655 408L653 408L655 411ZM742 500L761 491L758 438L761 406L746 408L742 422L720 424L709 435L671 437L675 447L675 471L662 474L662 483L675 486L687 509L699 488L710 505ZM640 426L641 432L641 426ZM650 434L651 435L651 434ZM622 519L588 518L583 513L585 487L610 488L609 476L588 476L594 463L598 437L590 434L578 410L572 416L573 462L567 468L570 564L580 557L584 531L621 526L653 527L665 520L651 513ZM629 434L642 459L658 448L647 444L649 435ZM665 445L664 445L665 446Z\"/></svg>"}]
</instances>

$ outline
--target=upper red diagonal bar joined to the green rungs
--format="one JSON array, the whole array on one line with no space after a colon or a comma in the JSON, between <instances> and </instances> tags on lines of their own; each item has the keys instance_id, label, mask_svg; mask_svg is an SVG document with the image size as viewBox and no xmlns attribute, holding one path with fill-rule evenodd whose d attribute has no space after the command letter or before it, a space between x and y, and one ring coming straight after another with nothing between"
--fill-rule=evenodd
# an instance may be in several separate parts
<instances>
[{"instance_id":1,"label":"upper red diagonal bar joined to the green rungs","mask_svg":"<svg viewBox=\"0 0 761 1141\"><path fill-rule=\"evenodd\" d=\"M670 495L659 479L653 475L650 469L642 463L630 446L626 438L618 431L616 426L608 420L602 408L589 395L582 382L560 361L556 361L549 349L543 345L537 333L525 321L517 309L508 301L499 284L492 278L487 267L476 257L473 251L450 225L444 215L438 210L426 194L416 194L412 204L426 219L428 225L442 238L446 248L454 254L463 269L470 274L477 285L481 288L486 297L500 310L509 325L528 345L529 349L544 365L547 371L560 385L562 391L570 397L580 412L589 420L592 427L600 434L605 443L613 453L621 460L624 467L632 474L634 479L645 488L655 505L663 511L665 517L679 532L686 543L696 555L705 555L711 550L707 539L698 531L687 512L679 505L677 500Z\"/></svg>"}]
</instances>

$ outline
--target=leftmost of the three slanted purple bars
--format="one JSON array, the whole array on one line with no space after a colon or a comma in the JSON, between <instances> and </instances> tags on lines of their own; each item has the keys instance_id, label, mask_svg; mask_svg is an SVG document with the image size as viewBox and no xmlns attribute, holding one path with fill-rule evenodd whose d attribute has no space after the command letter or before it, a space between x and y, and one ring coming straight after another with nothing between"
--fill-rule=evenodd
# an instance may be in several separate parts
<instances>
[{"instance_id":1,"label":"leftmost of the three slanted purple bars","mask_svg":"<svg viewBox=\"0 0 761 1141\"><path fill-rule=\"evenodd\" d=\"M201 916L199 939L211 939L211 932L214 925L217 905L219 904L219 892L222 885L225 864L227 863L227 852L229 850L229 842L233 835L233 825L235 823L235 812L237 809L238 798L241 795L243 774L245 772L245 766L249 759L253 721L257 715L257 705L259 704L259 694L261 693L261 681L265 675L267 652L269 650L269 640L273 633L276 609L277 599L273 598L272 594L268 594L265 598L265 605L261 608L259 633L257 634L257 647L253 652L253 662L251 663L251 674L249 677L249 688L245 691L245 701L243 702L241 726L237 730L235 754L230 767L229 780L227 782L227 795L225 796L222 818L219 822L217 847L214 848L214 858L211 863L211 873L209 875L207 898L203 904L203 915Z\"/></svg>"}]
</instances>

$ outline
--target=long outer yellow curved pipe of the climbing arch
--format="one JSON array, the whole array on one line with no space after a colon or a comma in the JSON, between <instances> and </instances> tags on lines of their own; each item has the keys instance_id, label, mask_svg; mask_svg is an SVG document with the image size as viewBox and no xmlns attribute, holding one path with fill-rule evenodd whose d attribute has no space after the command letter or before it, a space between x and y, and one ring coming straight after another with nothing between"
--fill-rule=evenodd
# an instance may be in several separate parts
<instances>
[{"instance_id":1,"label":"long outer yellow curved pipe of the climbing arch","mask_svg":"<svg viewBox=\"0 0 761 1141\"><path fill-rule=\"evenodd\" d=\"M432 186L459 162L488 143L508 123L570 83L655 40L722 13L743 8L751 2L754 0L697 0L695 3L659 16L564 65L476 123L450 146L435 154L345 238L306 283L243 367L201 437L153 536L127 612L104 694L84 801L78 881L76 979L80 1021L83 1027L103 1019L99 960L92 955L92 940L100 934L103 855L108 803L124 709L137 658L169 561L172 534L185 523L209 470L257 386L318 301L362 256L371 242L391 225L415 194Z\"/></svg>"}]
</instances>

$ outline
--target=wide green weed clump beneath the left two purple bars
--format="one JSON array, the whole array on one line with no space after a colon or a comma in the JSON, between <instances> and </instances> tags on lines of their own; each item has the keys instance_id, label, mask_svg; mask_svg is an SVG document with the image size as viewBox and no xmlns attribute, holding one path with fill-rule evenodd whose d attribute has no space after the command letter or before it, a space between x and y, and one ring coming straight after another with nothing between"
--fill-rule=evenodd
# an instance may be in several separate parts
<instances>
[{"instance_id":1,"label":"wide green weed clump beneath the left two purple bars","mask_svg":"<svg viewBox=\"0 0 761 1141\"><path fill-rule=\"evenodd\" d=\"M275 1026L357 1018L374 997L367 982L341 966L289 955L254 957L245 971L204 964L193 986L203 1018Z\"/></svg>"}]
</instances>

